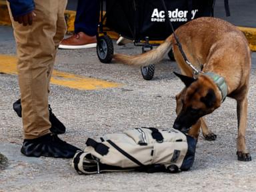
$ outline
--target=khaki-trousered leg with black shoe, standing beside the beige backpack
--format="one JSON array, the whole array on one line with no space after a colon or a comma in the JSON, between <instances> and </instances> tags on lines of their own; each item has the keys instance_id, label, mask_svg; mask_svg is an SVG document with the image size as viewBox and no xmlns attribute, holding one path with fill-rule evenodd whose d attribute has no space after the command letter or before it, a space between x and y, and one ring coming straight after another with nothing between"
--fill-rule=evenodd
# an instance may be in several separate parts
<instances>
[{"instance_id":1,"label":"khaki-trousered leg with black shoe, standing beside the beige backpack","mask_svg":"<svg viewBox=\"0 0 256 192\"><path fill-rule=\"evenodd\" d=\"M77 151L77 147L61 141L49 131L48 85L55 59L54 37L59 7L64 7L66 3L66 0L35 0L37 16L32 25L23 26L12 21L17 42L17 69L23 108L25 139L21 153L27 156L70 158Z\"/></svg>"}]
</instances>

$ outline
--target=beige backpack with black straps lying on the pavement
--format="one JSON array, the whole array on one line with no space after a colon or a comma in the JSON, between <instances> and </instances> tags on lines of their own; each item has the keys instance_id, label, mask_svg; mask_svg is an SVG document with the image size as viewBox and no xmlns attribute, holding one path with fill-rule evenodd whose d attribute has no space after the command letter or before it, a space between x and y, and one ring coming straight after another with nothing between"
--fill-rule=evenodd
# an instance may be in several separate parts
<instances>
[{"instance_id":1,"label":"beige backpack with black straps lying on the pavement","mask_svg":"<svg viewBox=\"0 0 256 192\"><path fill-rule=\"evenodd\" d=\"M72 167L78 173L106 171L187 171L195 158L197 140L176 129L142 127L108 134L97 142L87 139L84 151L77 151Z\"/></svg>"}]
</instances>

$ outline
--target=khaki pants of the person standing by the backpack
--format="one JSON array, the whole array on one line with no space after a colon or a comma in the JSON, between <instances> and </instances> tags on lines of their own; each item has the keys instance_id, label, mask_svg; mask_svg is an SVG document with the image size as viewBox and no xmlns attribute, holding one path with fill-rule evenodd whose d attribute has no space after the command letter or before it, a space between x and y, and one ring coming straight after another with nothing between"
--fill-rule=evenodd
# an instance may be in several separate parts
<instances>
[{"instance_id":1,"label":"khaki pants of the person standing by the backpack","mask_svg":"<svg viewBox=\"0 0 256 192\"><path fill-rule=\"evenodd\" d=\"M17 69L21 91L25 139L50 133L49 81L59 42L66 31L64 11L67 0L34 0L32 25L23 26L12 19L17 43ZM11 15L11 11L9 9Z\"/></svg>"}]
</instances>

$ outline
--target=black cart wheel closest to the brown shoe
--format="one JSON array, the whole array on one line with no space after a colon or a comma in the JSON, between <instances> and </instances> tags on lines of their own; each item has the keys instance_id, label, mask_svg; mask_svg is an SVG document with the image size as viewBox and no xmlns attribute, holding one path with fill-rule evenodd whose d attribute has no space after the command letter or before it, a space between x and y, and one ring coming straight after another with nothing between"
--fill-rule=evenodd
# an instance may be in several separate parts
<instances>
[{"instance_id":1,"label":"black cart wheel closest to the brown shoe","mask_svg":"<svg viewBox=\"0 0 256 192\"><path fill-rule=\"evenodd\" d=\"M97 42L97 55L101 63L110 63L113 58L114 47L112 39L108 35L99 37Z\"/></svg>"}]
</instances>

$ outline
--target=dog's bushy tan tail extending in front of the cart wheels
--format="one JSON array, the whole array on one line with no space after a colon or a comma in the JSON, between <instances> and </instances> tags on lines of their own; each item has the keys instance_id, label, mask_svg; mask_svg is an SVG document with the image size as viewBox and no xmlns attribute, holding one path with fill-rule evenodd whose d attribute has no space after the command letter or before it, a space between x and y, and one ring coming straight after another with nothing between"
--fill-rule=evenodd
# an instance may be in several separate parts
<instances>
[{"instance_id":1,"label":"dog's bushy tan tail extending in front of the cart wheels","mask_svg":"<svg viewBox=\"0 0 256 192\"><path fill-rule=\"evenodd\" d=\"M113 58L115 61L118 61L127 65L138 65L138 66L147 66L150 64L159 63L163 57L171 51L173 35L170 35L165 39L157 49L152 49L151 51L147 51L146 53L142 53L139 55L125 55L125 54L115 54Z\"/></svg>"}]
</instances>

